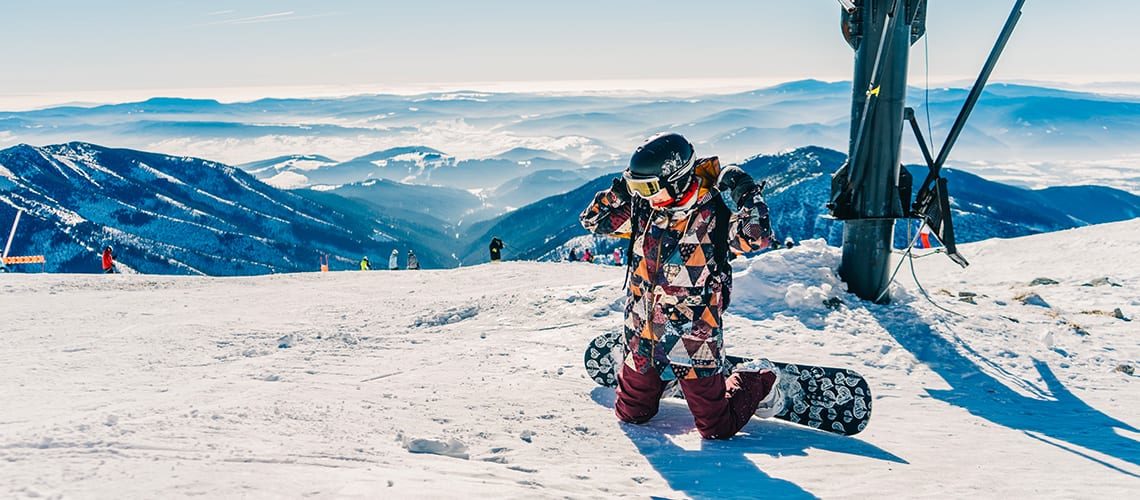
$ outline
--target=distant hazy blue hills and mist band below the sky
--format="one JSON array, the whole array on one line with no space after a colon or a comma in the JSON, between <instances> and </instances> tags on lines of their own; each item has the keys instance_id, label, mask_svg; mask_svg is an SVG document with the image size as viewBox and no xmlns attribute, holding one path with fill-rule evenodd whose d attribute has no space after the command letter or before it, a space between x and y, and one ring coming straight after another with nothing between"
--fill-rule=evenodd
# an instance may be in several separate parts
<instances>
[{"instance_id":1,"label":"distant hazy blue hills and mist band below the sky","mask_svg":"<svg viewBox=\"0 0 1140 500\"><path fill-rule=\"evenodd\" d=\"M907 105L922 122L929 112L930 139L940 144L967 91L930 89L928 104L925 90L912 89ZM447 151L443 156L455 161L491 163L474 163L472 171L447 171L448 175L416 182L487 189L521 174L504 174L487 186L479 185L483 175L498 173L497 161L528 162L532 158L527 158L526 151L540 151L535 157L598 166L624 161L645 137L661 130L685 133L726 162L804 145L845 149L849 116L850 83L815 80L701 96L472 91L233 104L157 98L90 108L0 113L0 144L84 140L230 164L299 151L363 158L417 145L416 149ZM950 166L1017 186L1093 183L1140 194L1138 142L1140 99L996 83L983 95ZM910 138L903 147L906 162L921 161ZM406 157L396 161L386 174L375 172L373 161L390 159L349 162L361 170L345 167L342 175L318 179L291 169L282 171L275 182L296 187L304 182L301 177L309 185L369 179L361 172L406 181L423 163L433 162ZM563 170L538 164L530 167ZM323 170L310 172L316 175ZM472 175L477 170L479 173Z\"/></svg>"}]
</instances>

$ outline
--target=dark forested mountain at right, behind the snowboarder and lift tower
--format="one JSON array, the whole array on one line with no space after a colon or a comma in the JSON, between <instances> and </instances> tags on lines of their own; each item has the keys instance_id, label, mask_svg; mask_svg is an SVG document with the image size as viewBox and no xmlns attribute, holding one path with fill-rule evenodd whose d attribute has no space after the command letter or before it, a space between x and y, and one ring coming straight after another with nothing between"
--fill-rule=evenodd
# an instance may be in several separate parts
<instances>
[{"instance_id":1,"label":"dark forested mountain at right, behind the snowboarder and lift tower","mask_svg":"<svg viewBox=\"0 0 1140 500\"><path fill-rule=\"evenodd\" d=\"M757 180L768 182L766 199L771 208L773 230L782 240L824 238L832 245L842 241L842 223L828 216L831 174L846 156L820 147L806 147L779 155L756 156L741 166ZM915 182L921 182L926 169L910 167ZM1140 197L1117 189L1081 186L1031 190L992 182L962 171L947 169L954 208L958 240L977 241L1056 231L1092 223L1113 222L1140 216ZM594 194L610 186L611 175L602 175L563 195L539 200L482 222L469 229L469 235L482 232L463 254L465 263L486 259L486 240L498 235L510 245L507 257L536 260L565 255L562 245L585 235L578 214ZM1089 200L1097 203L1088 203ZM917 227L912 226L911 231ZM911 232L913 233L913 232ZM895 244L909 244L907 227L901 221L895 230ZM595 249L609 252L616 244L596 241ZM571 246L581 246L575 241Z\"/></svg>"}]
</instances>

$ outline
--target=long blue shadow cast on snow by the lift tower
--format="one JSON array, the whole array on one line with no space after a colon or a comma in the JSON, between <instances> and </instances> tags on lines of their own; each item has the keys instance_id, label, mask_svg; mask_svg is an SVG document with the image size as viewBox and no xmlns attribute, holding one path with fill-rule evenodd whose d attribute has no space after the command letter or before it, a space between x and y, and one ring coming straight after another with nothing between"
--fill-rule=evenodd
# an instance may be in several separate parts
<instances>
[{"instance_id":1,"label":"long blue shadow cast on snow by the lift tower","mask_svg":"<svg viewBox=\"0 0 1140 500\"><path fill-rule=\"evenodd\" d=\"M1020 380L1028 388L1041 393L1040 397L1026 396L982 370L955 349L958 345L919 320L920 315L911 308L873 306L868 310L903 349L910 351L920 362L950 384L952 387L950 390L928 388L927 393L934 399L960 407L994 424L1021 431L1032 438L1122 474L1140 477L1069 446L1078 445L1132 465L1140 465L1140 441L1117 432L1124 429L1135 433L1137 428L1105 415L1074 395L1044 361L1033 360L1045 383L1047 392ZM961 345L961 347L972 352L969 346ZM982 359L980 355L977 358ZM996 366L991 367L999 372L1003 371ZM1016 378L1012 375L1009 377Z\"/></svg>"}]
</instances>

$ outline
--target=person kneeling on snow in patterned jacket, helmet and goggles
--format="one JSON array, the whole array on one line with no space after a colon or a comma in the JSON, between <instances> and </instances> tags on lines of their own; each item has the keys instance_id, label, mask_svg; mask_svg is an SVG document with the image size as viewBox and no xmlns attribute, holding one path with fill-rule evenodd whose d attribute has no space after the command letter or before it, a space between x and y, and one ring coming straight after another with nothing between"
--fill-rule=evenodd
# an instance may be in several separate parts
<instances>
[{"instance_id":1,"label":"person kneeling on snow in patterned jacket, helmet and goggles","mask_svg":"<svg viewBox=\"0 0 1140 500\"><path fill-rule=\"evenodd\" d=\"M697 158L684 137L662 133L638 147L622 175L581 213L591 232L630 240L626 354L614 403L622 421L653 418L667 379L679 380L705 438L732 437L754 413L782 410L779 370L759 359L727 372L720 329L732 287L728 253L772 244L762 188L740 167Z\"/></svg>"}]
</instances>

